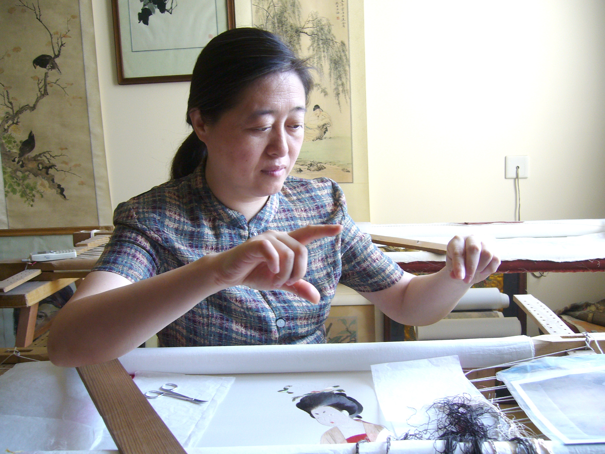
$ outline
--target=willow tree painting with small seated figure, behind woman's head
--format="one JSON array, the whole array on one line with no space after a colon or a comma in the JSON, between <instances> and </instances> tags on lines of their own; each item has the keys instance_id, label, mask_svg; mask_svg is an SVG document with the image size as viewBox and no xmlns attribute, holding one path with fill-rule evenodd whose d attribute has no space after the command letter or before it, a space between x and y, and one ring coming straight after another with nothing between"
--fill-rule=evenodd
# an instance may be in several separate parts
<instances>
[{"instance_id":1,"label":"willow tree painting with small seated figure, behind woman's head","mask_svg":"<svg viewBox=\"0 0 605 454\"><path fill-rule=\"evenodd\" d=\"M280 36L315 68L305 137L292 174L353 181L346 0L252 0L255 27Z\"/></svg>"}]
</instances>

